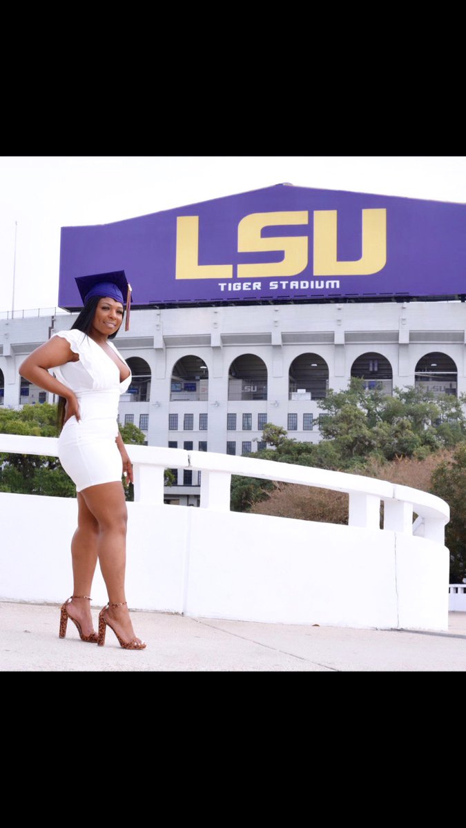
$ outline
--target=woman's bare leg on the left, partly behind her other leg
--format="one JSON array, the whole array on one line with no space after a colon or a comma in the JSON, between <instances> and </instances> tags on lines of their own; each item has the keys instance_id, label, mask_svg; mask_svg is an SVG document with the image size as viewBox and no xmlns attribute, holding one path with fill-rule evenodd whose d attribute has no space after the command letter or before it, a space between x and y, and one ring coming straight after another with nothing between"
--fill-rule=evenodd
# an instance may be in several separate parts
<instances>
[{"instance_id":1,"label":"woman's bare leg on the left, partly behind her other leg","mask_svg":"<svg viewBox=\"0 0 466 828\"><path fill-rule=\"evenodd\" d=\"M97 565L97 543L99 523L87 508L80 492L78 500L78 527L71 540L71 558L73 564L73 595L91 595L92 580ZM68 614L80 624L84 635L94 631L90 614L90 601L74 598L67 604Z\"/></svg>"}]
</instances>

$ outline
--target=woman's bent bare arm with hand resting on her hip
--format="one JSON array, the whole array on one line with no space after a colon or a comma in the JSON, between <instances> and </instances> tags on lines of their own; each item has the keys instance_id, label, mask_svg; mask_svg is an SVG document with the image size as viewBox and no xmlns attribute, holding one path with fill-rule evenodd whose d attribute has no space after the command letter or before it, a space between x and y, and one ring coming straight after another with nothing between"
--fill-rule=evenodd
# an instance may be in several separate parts
<instances>
[{"instance_id":1,"label":"woman's bent bare arm with hand resting on her hip","mask_svg":"<svg viewBox=\"0 0 466 828\"><path fill-rule=\"evenodd\" d=\"M80 410L75 392L63 385L58 379L52 377L48 372L49 368L56 368L57 365L64 365L67 362L75 362L76 354L71 350L70 343L62 336L52 336L48 342L39 345L32 351L18 368L18 373L45 391L58 394L66 399L66 420L75 415L76 420L80 419Z\"/></svg>"}]
</instances>

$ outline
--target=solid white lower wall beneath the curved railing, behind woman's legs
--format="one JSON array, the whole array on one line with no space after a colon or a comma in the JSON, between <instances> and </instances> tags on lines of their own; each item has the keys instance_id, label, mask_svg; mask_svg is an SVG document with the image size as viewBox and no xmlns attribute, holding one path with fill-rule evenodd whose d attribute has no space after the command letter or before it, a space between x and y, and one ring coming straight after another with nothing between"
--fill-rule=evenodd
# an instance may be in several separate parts
<instances>
[{"instance_id":1,"label":"solid white lower wall beneath the curved railing, behind woman's legs","mask_svg":"<svg viewBox=\"0 0 466 828\"><path fill-rule=\"evenodd\" d=\"M449 553L401 532L129 503L133 609L268 623L448 628ZM0 598L71 595L71 498L0 493ZM98 570L94 604L107 601Z\"/></svg>"}]
</instances>

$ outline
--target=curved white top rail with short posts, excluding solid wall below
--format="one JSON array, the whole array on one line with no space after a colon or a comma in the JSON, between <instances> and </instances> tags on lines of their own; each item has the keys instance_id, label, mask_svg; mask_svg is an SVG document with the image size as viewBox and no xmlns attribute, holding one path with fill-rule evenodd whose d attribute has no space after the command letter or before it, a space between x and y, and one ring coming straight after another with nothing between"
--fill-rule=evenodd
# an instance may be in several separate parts
<instances>
[{"instance_id":1,"label":"curved white top rail with short posts, excluding solid wall below","mask_svg":"<svg viewBox=\"0 0 466 828\"><path fill-rule=\"evenodd\" d=\"M153 445L127 445L134 471L134 501L163 504L164 469L201 471L201 508L230 511L231 475L240 474L284 483L316 486L349 495L348 526L380 527L380 507L384 503L383 528L417 535L444 543L444 527L449 522L449 505L434 494L361 474L315 469L274 460L255 460L208 451L168 449ZM58 455L58 439L0 434L0 452ZM413 513L418 515L413 523Z\"/></svg>"}]
</instances>

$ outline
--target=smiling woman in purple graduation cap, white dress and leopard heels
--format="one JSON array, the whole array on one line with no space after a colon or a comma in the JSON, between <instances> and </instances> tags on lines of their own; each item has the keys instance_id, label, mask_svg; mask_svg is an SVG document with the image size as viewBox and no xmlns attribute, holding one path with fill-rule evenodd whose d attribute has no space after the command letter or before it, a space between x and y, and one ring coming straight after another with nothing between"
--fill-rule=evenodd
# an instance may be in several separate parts
<instances>
[{"instance_id":1,"label":"smiling woman in purple graduation cap, white dress and leopard heels","mask_svg":"<svg viewBox=\"0 0 466 828\"><path fill-rule=\"evenodd\" d=\"M134 634L124 595L127 508L121 477L133 482L133 469L117 422L119 395L129 387L131 372L109 341L122 324L126 290L128 329L131 288L124 272L80 277L76 283L84 308L75 324L36 348L19 368L22 377L61 397L58 456L76 485L74 589L61 607L60 638L65 638L71 619L83 641L102 646L109 626L121 647L141 650L146 644ZM109 595L100 612L98 635L90 614L97 559Z\"/></svg>"}]
</instances>

